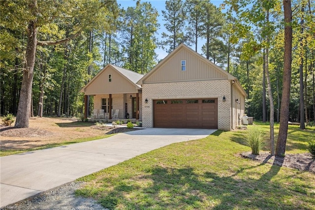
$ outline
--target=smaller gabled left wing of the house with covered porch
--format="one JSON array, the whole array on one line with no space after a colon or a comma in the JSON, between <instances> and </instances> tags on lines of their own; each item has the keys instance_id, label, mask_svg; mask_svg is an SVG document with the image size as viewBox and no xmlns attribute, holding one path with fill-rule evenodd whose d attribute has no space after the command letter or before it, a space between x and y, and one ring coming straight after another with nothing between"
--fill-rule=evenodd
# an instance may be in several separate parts
<instances>
[{"instance_id":1,"label":"smaller gabled left wing of the house with covered porch","mask_svg":"<svg viewBox=\"0 0 315 210\"><path fill-rule=\"evenodd\" d=\"M118 118L142 118L142 88L136 82L143 74L126 70L111 64L106 65L82 88L85 95L94 96L94 108L104 109L112 119L111 109L119 109ZM87 107L85 108L87 110ZM86 115L86 112L85 112ZM85 116L87 118L88 116Z\"/></svg>"}]
</instances>

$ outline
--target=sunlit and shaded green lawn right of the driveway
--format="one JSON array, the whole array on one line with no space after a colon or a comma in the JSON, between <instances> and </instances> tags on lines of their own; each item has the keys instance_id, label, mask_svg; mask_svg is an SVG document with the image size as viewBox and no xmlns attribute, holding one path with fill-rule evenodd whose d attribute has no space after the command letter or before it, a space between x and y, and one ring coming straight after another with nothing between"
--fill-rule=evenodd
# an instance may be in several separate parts
<instances>
[{"instance_id":1,"label":"sunlit and shaded green lawn right of the driveway","mask_svg":"<svg viewBox=\"0 0 315 210\"><path fill-rule=\"evenodd\" d=\"M241 158L251 151L244 134L217 131L148 152L78 179L87 185L76 195L109 209L315 209L315 175ZM290 126L287 153L307 152L312 134Z\"/></svg>"}]
</instances>

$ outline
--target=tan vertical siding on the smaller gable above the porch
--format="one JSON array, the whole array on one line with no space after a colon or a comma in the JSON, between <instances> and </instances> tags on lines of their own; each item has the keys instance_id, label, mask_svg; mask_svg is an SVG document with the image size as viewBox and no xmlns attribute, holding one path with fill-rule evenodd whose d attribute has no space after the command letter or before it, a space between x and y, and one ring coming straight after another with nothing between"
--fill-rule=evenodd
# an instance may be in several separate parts
<instances>
[{"instance_id":1,"label":"tan vertical siding on the smaller gable above the porch","mask_svg":"<svg viewBox=\"0 0 315 210\"><path fill-rule=\"evenodd\" d=\"M112 75L111 82L108 81L109 74ZM96 75L95 80L85 88L84 92L85 95L134 93L135 85L109 66Z\"/></svg>"}]
</instances>

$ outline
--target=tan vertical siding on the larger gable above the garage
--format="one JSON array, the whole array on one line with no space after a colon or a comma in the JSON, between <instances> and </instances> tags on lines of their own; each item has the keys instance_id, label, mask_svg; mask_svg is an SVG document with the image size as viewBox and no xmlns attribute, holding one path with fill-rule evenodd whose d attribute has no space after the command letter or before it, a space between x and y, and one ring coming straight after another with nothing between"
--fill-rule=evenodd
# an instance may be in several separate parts
<instances>
[{"instance_id":1,"label":"tan vertical siding on the larger gable above the garage","mask_svg":"<svg viewBox=\"0 0 315 210\"><path fill-rule=\"evenodd\" d=\"M186 60L186 70L181 70L181 61ZM200 57L182 48L179 52L167 59L158 70L145 79L144 83L175 82L175 81L202 81L209 79L227 79L227 75L218 70L215 65L207 63Z\"/></svg>"}]
</instances>

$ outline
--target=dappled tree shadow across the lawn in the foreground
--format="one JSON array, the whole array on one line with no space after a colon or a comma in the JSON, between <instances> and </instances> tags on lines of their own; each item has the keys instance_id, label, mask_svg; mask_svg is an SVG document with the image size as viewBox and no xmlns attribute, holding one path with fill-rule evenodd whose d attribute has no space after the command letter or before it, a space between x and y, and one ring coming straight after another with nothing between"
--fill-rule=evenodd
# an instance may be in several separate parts
<instances>
[{"instance_id":1,"label":"dappled tree shadow across the lawn in the foreground","mask_svg":"<svg viewBox=\"0 0 315 210\"><path fill-rule=\"evenodd\" d=\"M254 174L252 169L262 165L245 168L235 175ZM108 209L294 209L297 206L290 202L286 204L284 200L298 196L300 192L292 192L272 181L280 169L272 165L259 178L257 175L242 179L213 172L197 174L191 167L157 166L146 171L149 175L114 178L114 188L98 194L97 198ZM112 187L112 183L106 181L102 188ZM78 190L77 194L91 196L95 191L85 188Z\"/></svg>"}]
</instances>

